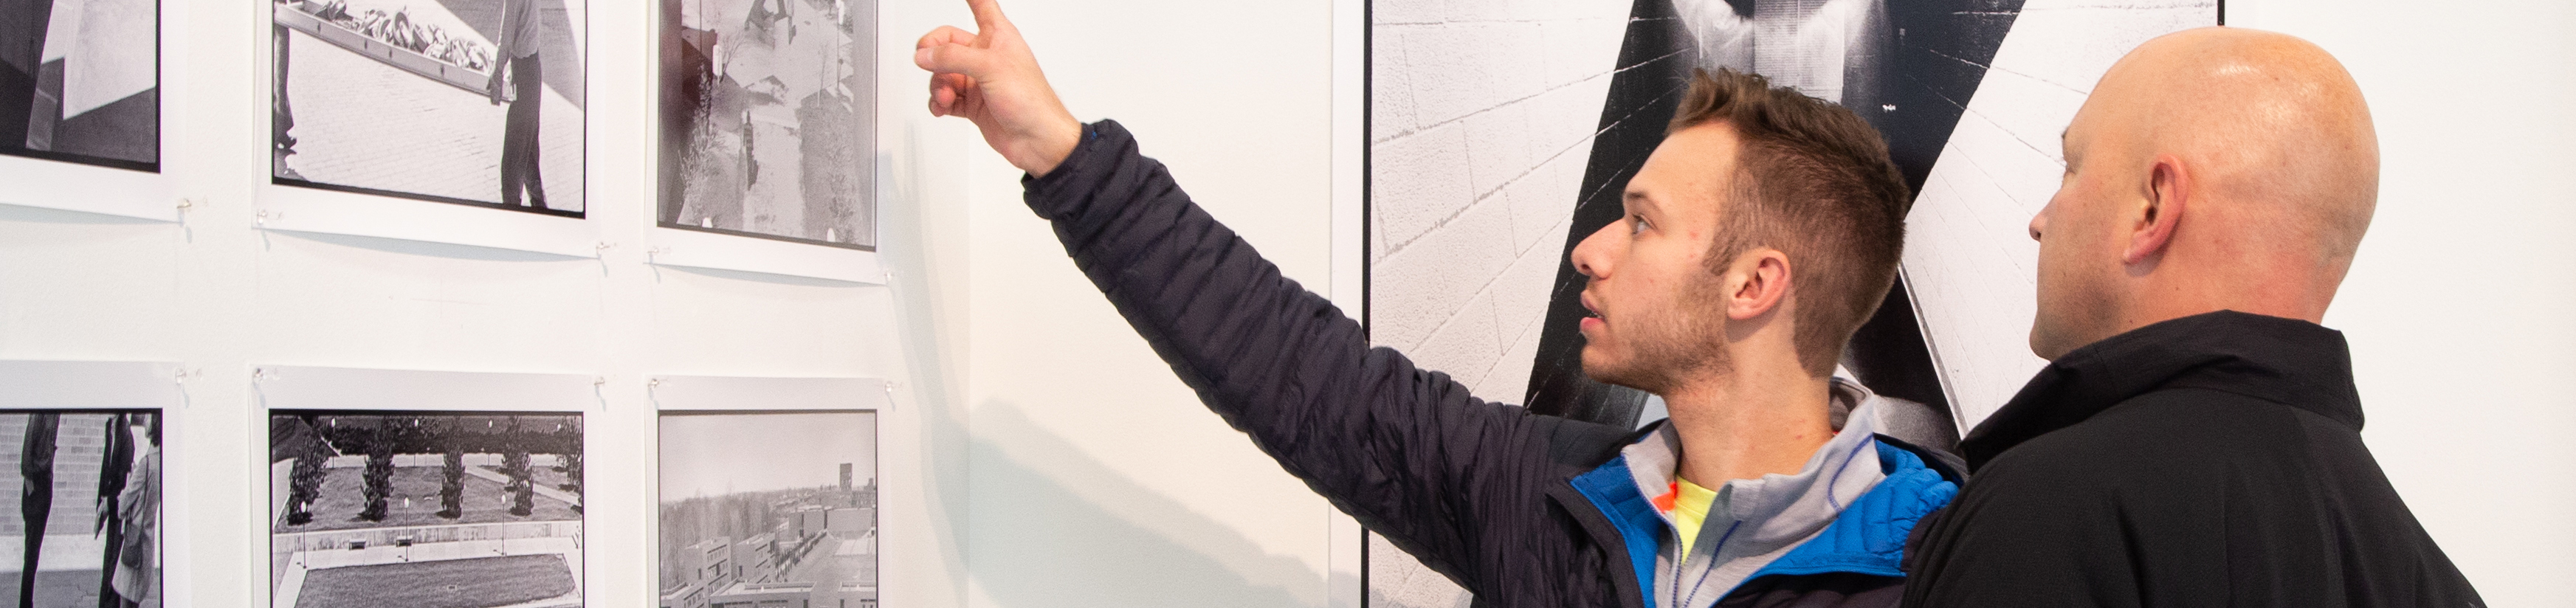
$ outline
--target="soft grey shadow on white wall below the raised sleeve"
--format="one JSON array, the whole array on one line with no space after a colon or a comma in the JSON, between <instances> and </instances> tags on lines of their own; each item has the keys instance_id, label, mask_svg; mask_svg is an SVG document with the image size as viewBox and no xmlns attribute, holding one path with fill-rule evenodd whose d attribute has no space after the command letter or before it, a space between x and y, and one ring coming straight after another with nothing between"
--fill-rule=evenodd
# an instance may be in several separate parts
<instances>
[{"instance_id":1,"label":"soft grey shadow on white wall below the raised sleeve","mask_svg":"<svg viewBox=\"0 0 2576 608\"><path fill-rule=\"evenodd\" d=\"M1324 605L1321 572L1136 484L1018 404L987 402L974 425L966 551L994 603Z\"/></svg>"}]
</instances>

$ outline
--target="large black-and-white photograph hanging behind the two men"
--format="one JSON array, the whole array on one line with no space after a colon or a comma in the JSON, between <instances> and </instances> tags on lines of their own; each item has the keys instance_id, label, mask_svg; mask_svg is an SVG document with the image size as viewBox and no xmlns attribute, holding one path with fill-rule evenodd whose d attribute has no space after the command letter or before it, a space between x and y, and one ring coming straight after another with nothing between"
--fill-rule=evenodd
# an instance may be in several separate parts
<instances>
[{"instance_id":1,"label":"large black-and-white photograph hanging behind the two men","mask_svg":"<svg viewBox=\"0 0 2576 608\"><path fill-rule=\"evenodd\" d=\"M2025 44L2002 57L2020 64L1989 70L2032 15L2050 31L2040 39L2045 46ZM2020 229L2056 183L2043 183L2035 198L2022 196L2030 201L1986 196L1994 188L1965 198L1935 191L1955 193L1965 191L1955 188L1958 180L2017 175L1978 170L1978 155L1991 157L2004 147L2020 155L2043 144L2053 155L2056 129L2063 129L2081 90L2117 52L2154 33L2208 23L2215 23L2213 3L1373 0L1363 319L1378 345L1404 350L1422 368L1448 371L1484 399L1607 425L1664 417L1654 394L1582 374L1584 337L1577 322L1584 317L1579 296L1587 278L1574 271L1569 252L1623 216L1620 193L1662 144L1692 70L1754 72L1860 113L1888 137L1888 155L1906 185L1924 193L1909 216L1914 234L1896 289L1852 337L1839 374L1878 394L1927 404L1935 423L1965 428L1973 417L1960 415L1953 389L1963 356L1955 343L1940 340L1940 327L1929 327L1927 319L1942 317L1927 312L1917 294L1960 294L1942 283L1927 286L1927 278L1955 281L1968 273L2017 276L2027 283L2030 255L2020 258L2022 265L1981 258L1973 263L1984 265L1947 271L1940 265L1971 260L1927 260L1917 247L1927 240L2027 245ZM2099 49L2110 49L2099 62L2069 59L2105 54ZM2027 75L2050 75L2030 82L2045 103L2014 98L2032 90L2022 85ZM2007 90L1989 93L1999 77ZM1976 106L1986 95L2020 106ZM2058 124L2048 126L2045 142L2038 129L2020 142L1953 142L1953 129L1991 131L1989 121L2020 116L2056 116ZM2030 175L2053 178L2058 170ZM1991 211L1971 214L1963 206ZM1935 227L1927 227L1927 216ZM1950 224L1996 229L1953 237ZM2004 229L2012 234L2002 234ZM2004 319L2012 317L2012 307L1996 307L2004 294L2012 291L1989 289L1986 296L1950 296L1940 304L1947 307L1942 314ZM2012 322L2027 330L2027 286L2017 299L2022 309ZM1991 325L1976 330L2020 335L1994 332ZM2027 348L2014 348L2027 358ZM1991 376L2027 379L2035 366L1999 368ZM1986 392L1971 397L2002 402ZM1368 541L1368 605L1468 603L1463 590L1383 538Z\"/></svg>"}]
</instances>

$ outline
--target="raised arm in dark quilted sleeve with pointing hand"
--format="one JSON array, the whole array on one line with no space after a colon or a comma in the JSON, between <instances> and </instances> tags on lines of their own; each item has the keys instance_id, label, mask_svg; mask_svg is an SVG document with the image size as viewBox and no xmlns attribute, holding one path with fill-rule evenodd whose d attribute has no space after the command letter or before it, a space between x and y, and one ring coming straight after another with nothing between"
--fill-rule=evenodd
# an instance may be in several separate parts
<instances>
[{"instance_id":1,"label":"raised arm in dark quilted sleeve with pointing hand","mask_svg":"<svg viewBox=\"0 0 2576 608\"><path fill-rule=\"evenodd\" d=\"M1198 397L1388 541L1468 587L1479 556L1543 518L1558 464L1623 430L1528 415L1368 348L1360 325L1280 276L1144 157L1115 121L1084 129L1018 31L976 0L981 33L940 28L914 57L933 113L974 119L1030 173L1028 206ZM1007 93L1005 93L1007 90ZM1061 149L1061 152L1059 152Z\"/></svg>"}]
</instances>

